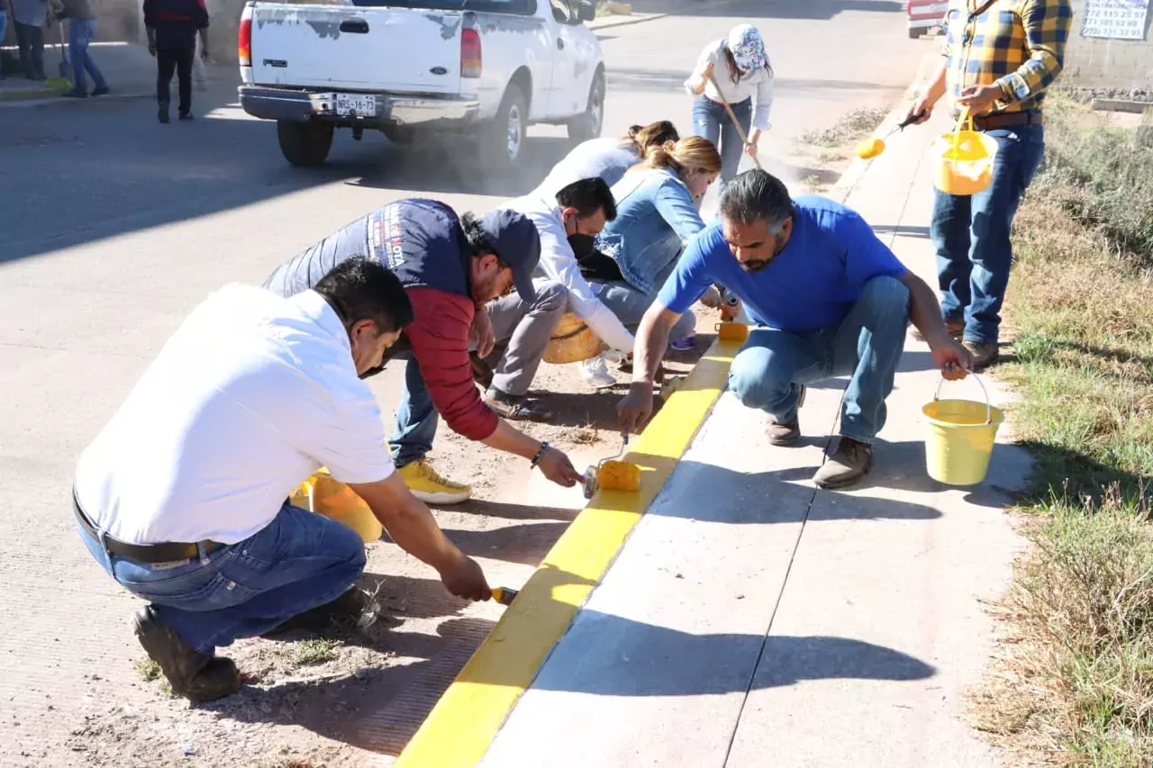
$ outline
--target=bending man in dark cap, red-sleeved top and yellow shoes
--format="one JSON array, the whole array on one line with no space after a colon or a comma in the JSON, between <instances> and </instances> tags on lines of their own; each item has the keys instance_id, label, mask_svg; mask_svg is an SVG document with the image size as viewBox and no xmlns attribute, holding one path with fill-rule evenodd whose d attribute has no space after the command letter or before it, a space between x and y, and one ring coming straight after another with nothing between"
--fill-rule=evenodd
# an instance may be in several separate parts
<instances>
[{"instance_id":1,"label":"bending man in dark cap, red-sleeved top and yellow shoes","mask_svg":"<svg viewBox=\"0 0 1153 768\"><path fill-rule=\"evenodd\" d=\"M473 379L469 349L483 355L510 338L510 354L520 355L513 364L526 390L523 379L532 381L536 372L533 360L540 364L549 332L565 309L562 287L533 279L540 254L536 227L514 211L495 210L477 219L470 213L458 217L438 201L406 198L306 249L277 269L264 287L292 296L308 291L334 264L357 256L397 274L413 302L414 319L393 347L394 355L406 354L408 361L397 428L389 438L392 458L416 498L458 504L472 496L472 487L443 477L427 458L438 416L458 435L522 457L558 485L571 488L582 480L567 455L512 427L511 408L492 407ZM514 402L522 405L522 397Z\"/></svg>"}]
</instances>

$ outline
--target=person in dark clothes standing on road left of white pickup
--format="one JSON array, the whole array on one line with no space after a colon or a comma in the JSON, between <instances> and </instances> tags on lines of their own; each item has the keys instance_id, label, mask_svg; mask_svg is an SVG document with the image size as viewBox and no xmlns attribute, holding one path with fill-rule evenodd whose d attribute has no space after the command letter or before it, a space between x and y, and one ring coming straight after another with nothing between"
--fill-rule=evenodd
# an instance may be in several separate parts
<instances>
[{"instance_id":1,"label":"person in dark clothes standing on road left of white pickup","mask_svg":"<svg viewBox=\"0 0 1153 768\"><path fill-rule=\"evenodd\" d=\"M201 58L209 55L209 12L204 0L144 0L144 28L148 52L156 57L157 119L168 122L172 73L180 83L178 114L193 119L193 60L196 58L196 35L201 37Z\"/></svg>"}]
</instances>

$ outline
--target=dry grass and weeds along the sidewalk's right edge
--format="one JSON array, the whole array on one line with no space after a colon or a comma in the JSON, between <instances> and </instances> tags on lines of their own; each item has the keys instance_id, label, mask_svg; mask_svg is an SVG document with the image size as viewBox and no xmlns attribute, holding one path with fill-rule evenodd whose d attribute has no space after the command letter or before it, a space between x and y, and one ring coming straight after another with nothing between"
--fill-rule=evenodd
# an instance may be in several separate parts
<instances>
[{"instance_id":1,"label":"dry grass and weeds along the sidewalk's right edge","mask_svg":"<svg viewBox=\"0 0 1153 768\"><path fill-rule=\"evenodd\" d=\"M1046 115L1007 321L1033 541L975 697L1012 765L1153 765L1153 120Z\"/></svg>"}]
</instances>

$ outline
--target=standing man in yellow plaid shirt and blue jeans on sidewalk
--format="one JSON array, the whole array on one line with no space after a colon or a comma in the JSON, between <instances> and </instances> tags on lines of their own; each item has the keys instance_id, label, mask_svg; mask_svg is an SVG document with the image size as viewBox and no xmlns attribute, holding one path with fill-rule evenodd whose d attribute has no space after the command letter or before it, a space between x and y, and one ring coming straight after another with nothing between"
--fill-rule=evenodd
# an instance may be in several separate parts
<instances>
[{"instance_id":1,"label":"standing man in yellow plaid shirt and blue jeans on sidewalk","mask_svg":"<svg viewBox=\"0 0 1153 768\"><path fill-rule=\"evenodd\" d=\"M945 325L978 371L1000 356L1012 219L1041 163L1041 104L1064 66L1071 25L1070 0L951 0L944 58L909 111L925 122L948 92L952 116L967 110L974 129L997 143L993 183L972 196L936 190L930 227Z\"/></svg>"}]
</instances>

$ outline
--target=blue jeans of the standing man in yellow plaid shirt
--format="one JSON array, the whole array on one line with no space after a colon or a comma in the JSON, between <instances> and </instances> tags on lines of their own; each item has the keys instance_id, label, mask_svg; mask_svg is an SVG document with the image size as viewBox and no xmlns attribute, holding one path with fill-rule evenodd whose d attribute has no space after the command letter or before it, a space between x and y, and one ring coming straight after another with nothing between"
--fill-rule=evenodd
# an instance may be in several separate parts
<instances>
[{"instance_id":1,"label":"blue jeans of the standing man in yellow plaid shirt","mask_svg":"<svg viewBox=\"0 0 1153 768\"><path fill-rule=\"evenodd\" d=\"M1045 129L1022 126L986 133L997 142L993 183L971 197L936 190L930 234L945 319L963 319L970 341L995 344L1012 266L1012 219L1041 164Z\"/></svg>"}]
</instances>

